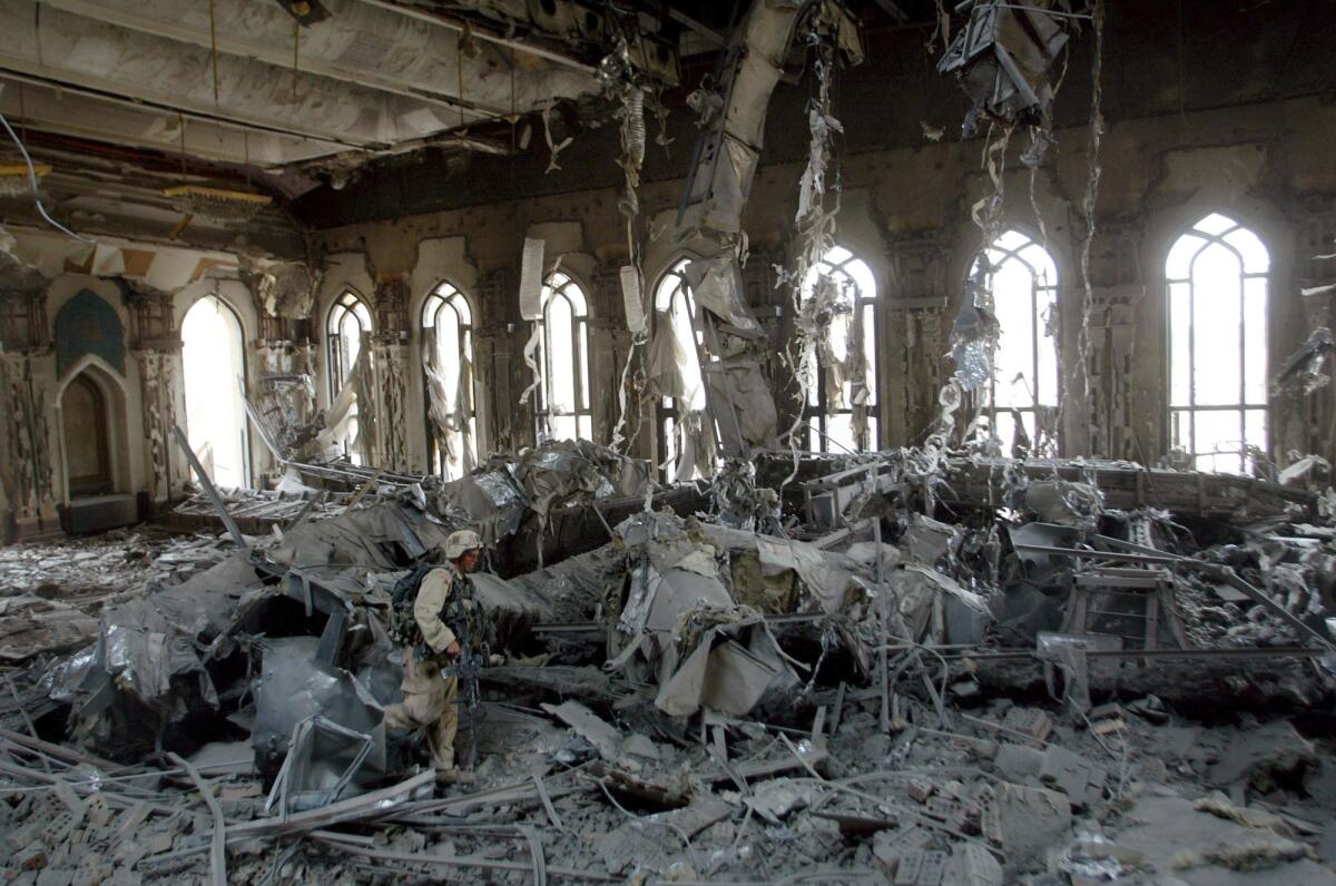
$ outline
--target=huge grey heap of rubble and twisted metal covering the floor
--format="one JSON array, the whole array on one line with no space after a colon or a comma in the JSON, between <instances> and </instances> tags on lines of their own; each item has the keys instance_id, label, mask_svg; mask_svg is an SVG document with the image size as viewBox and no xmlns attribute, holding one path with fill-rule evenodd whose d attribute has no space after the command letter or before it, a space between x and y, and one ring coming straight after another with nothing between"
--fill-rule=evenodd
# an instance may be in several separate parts
<instances>
[{"instance_id":1,"label":"huge grey heap of rubble and twisted metal covering the floor","mask_svg":"<svg viewBox=\"0 0 1336 886\"><path fill-rule=\"evenodd\" d=\"M1304 482L776 453L688 510L550 444L244 544L152 536L139 572L128 537L16 549L91 628L5 674L5 878L1336 883L1336 527ZM514 573L558 510L601 532ZM504 660L472 783L434 788L383 724L391 593L458 527L496 544Z\"/></svg>"}]
</instances>

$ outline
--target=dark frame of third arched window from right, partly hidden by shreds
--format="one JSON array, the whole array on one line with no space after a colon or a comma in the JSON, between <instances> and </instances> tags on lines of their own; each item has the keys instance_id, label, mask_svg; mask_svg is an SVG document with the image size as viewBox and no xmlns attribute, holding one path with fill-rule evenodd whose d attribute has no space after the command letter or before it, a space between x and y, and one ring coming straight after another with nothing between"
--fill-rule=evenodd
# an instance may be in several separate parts
<instances>
[{"instance_id":1,"label":"dark frame of third arched window from right, partly hidden by shreds","mask_svg":"<svg viewBox=\"0 0 1336 886\"><path fill-rule=\"evenodd\" d=\"M844 258L831 261L831 255L836 251L847 253ZM864 293L863 287L859 286L858 278L848 270L852 265L859 263L867 270L868 278L872 281L872 293ZM836 277L836 279L843 278L854 287L854 321L856 322L860 315L863 315L866 309L871 309L871 329L866 329L864 323L863 335L872 337L872 365L871 376L875 384L872 397L868 401L867 417L868 429L866 440L855 440L854 452L876 452L882 446L882 337L880 337L880 323L882 323L882 309L880 299L876 291L876 275L872 273L872 266L867 263L858 253L835 243L831 246L820 261L814 265L808 273L808 279L804 281L802 289L802 299L806 302L812 291L819 277ZM851 327L852 331L852 327ZM807 398L803 401L803 429L807 434L807 449L811 452L843 452L842 449L830 449L830 421L835 416L848 416L850 422L852 422L854 405L850 404L846 409L831 409L828 405L827 396L827 374L828 369L816 362L816 380L812 388L808 388ZM812 422L816 422L818 433L812 433Z\"/></svg>"}]
</instances>

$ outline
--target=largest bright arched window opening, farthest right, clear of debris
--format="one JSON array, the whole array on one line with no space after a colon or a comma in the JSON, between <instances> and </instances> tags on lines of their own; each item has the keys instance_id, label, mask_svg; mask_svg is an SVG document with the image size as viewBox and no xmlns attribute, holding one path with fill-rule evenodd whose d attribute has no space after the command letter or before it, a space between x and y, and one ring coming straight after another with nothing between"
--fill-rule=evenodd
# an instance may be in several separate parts
<instances>
[{"instance_id":1,"label":"largest bright arched window opening, farthest right, clear of debris","mask_svg":"<svg viewBox=\"0 0 1336 886\"><path fill-rule=\"evenodd\" d=\"M1267 298L1271 255L1233 219L1210 214L1165 261L1170 445L1198 470L1246 472L1267 452Z\"/></svg>"}]
</instances>

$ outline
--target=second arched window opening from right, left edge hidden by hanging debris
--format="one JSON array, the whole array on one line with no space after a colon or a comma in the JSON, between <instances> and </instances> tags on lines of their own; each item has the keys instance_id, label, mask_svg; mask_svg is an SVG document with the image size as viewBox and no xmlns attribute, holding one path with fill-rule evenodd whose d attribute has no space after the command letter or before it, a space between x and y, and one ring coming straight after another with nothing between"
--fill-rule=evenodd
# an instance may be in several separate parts
<instances>
[{"instance_id":1,"label":"second arched window opening from right, left edge hidden by hanging debris","mask_svg":"<svg viewBox=\"0 0 1336 886\"><path fill-rule=\"evenodd\" d=\"M993 430L1005 452L1018 442L1019 430L1030 441L1030 453L1057 454L1057 265L1047 250L1017 230L999 235L974 261L971 275L981 265L999 327L987 408Z\"/></svg>"}]
</instances>

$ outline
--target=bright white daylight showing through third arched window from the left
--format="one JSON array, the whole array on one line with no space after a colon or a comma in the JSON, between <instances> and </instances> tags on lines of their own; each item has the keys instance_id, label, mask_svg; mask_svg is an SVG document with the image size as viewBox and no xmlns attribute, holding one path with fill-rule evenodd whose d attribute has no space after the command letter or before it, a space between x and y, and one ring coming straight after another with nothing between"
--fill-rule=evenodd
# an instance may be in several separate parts
<instances>
[{"instance_id":1,"label":"bright white daylight showing through third arched window from the left","mask_svg":"<svg viewBox=\"0 0 1336 886\"><path fill-rule=\"evenodd\" d=\"M432 468L445 480L456 480L464 476L465 461L477 461L477 405L468 380L461 385L464 366L473 365L473 309L469 299L454 286L441 283L422 305L422 329L434 330L433 359L445 388L445 412L452 417L444 452L436 433L428 433ZM430 406L428 394L428 412Z\"/></svg>"}]
</instances>

